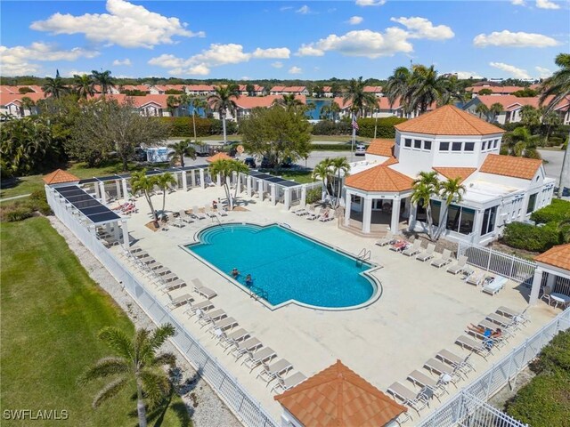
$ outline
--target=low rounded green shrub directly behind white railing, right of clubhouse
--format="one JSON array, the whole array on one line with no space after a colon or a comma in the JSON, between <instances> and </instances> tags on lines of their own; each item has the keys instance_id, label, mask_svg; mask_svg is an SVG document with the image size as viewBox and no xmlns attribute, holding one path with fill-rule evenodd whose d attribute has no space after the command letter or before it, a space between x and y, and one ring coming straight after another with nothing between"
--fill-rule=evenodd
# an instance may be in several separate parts
<instances>
[{"instance_id":1,"label":"low rounded green shrub directly behind white railing, right of clubhouse","mask_svg":"<svg viewBox=\"0 0 570 427\"><path fill-rule=\"evenodd\" d=\"M503 241L517 249L544 252L559 243L557 224L550 222L537 227L523 222L511 222L505 227Z\"/></svg>"}]
</instances>

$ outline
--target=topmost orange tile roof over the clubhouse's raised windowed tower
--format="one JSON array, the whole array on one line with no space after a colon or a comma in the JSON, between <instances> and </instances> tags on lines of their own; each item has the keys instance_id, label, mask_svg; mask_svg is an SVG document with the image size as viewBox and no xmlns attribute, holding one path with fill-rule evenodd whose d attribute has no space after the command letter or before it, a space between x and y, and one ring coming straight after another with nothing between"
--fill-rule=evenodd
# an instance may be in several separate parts
<instances>
[{"instance_id":1,"label":"topmost orange tile roof over the clubhouse's raised windowed tower","mask_svg":"<svg viewBox=\"0 0 570 427\"><path fill-rule=\"evenodd\" d=\"M394 127L401 132L429 135L488 135L505 132L452 105L444 105Z\"/></svg>"}]
</instances>

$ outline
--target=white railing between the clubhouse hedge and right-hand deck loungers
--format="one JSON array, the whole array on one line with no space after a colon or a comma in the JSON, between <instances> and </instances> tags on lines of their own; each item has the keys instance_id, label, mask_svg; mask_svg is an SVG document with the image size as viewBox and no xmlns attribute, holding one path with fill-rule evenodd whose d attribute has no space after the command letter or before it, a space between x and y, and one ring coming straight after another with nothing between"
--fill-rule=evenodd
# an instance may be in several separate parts
<instances>
[{"instance_id":1,"label":"white railing between the clubhouse hedge and right-hand deck loungers","mask_svg":"<svg viewBox=\"0 0 570 427\"><path fill-rule=\"evenodd\" d=\"M493 271L505 278L518 282L530 283L533 280L536 263L519 258L515 255L503 254L488 247L460 241L457 246L457 256L465 255L468 263L480 269Z\"/></svg>"}]
</instances>

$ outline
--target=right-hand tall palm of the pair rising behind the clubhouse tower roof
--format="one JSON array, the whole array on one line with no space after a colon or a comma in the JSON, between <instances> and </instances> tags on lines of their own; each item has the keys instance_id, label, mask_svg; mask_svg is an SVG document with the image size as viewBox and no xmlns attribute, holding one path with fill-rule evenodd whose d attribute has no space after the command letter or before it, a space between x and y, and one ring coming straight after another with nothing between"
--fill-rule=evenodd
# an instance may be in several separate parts
<instances>
[{"instance_id":1,"label":"right-hand tall palm of the pair rising behind the clubhouse tower roof","mask_svg":"<svg viewBox=\"0 0 570 427\"><path fill-rule=\"evenodd\" d=\"M419 111L423 114L432 103L441 101L446 91L447 77L437 76L433 65L414 65L408 91L403 97L404 109L408 113Z\"/></svg>"}]
</instances>

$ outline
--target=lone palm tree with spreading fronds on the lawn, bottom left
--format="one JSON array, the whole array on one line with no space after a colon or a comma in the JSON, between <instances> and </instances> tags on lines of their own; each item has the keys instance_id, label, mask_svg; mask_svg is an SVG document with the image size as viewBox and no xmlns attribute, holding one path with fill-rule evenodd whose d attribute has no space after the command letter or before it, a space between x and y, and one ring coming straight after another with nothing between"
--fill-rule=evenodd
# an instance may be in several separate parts
<instances>
[{"instance_id":1,"label":"lone palm tree with spreading fronds on the lawn, bottom left","mask_svg":"<svg viewBox=\"0 0 570 427\"><path fill-rule=\"evenodd\" d=\"M136 409L140 427L146 427L147 400L150 407L155 407L170 391L170 382L164 367L174 368L175 355L159 353L159 348L170 336L175 334L174 326L159 326L154 331L138 329L134 338L129 338L117 327L107 326L97 336L109 345L116 356L102 358L89 367L78 378L78 383L85 384L94 380L115 378L107 383L95 396L93 407L99 407L107 399L114 398L128 385L136 386ZM134 384L133 384L134 383Z\"/></svg>"}]
</instances>

